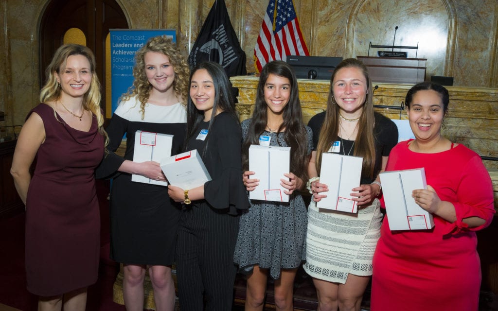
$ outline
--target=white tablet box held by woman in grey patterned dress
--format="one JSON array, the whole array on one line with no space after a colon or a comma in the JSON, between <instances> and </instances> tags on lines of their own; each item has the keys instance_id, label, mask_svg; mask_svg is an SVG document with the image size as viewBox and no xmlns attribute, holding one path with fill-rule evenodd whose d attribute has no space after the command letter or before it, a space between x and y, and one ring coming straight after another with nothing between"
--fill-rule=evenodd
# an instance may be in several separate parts
<instances>
[{"instance_id":1,"label":"white tablet box held by woman in grey patterned dress","mask_svg":"<svg viewBox=\"0 0 498 311\"><path fill-rule=\"evenodd\" d=\"M259 185L249 191L250 200L289 202L280 179L290 171L290 147L250 145L249 171L255 173L250 179L259 179Z\"/></svg>"}]
</instances>

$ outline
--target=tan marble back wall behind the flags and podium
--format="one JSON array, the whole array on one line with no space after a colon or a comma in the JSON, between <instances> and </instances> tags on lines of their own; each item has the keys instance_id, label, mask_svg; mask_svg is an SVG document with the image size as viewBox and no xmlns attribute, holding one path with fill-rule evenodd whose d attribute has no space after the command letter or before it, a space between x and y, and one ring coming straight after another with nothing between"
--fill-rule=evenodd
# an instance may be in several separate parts
<instances>
[{"instance_id":1,"label":"tan marble back wall behind the flags and podium","mask_svg":"<svg viewBox=\"0 0 498 311\"><path fill-rule=\"evenodd\" d=\"M254 71L253 49L268 0L225 0ZM49 0L1 0L0 125L22 124L39 92L39 21ZM116 0L130 28L173 28L188 54L215 0ZM498 88L496 0L294 0L312 55L356 57L369 43L416 45L426 77L454 76L455 86ZM370 55L375 53L370 51ZM408 50L414 57L414 50Z\"/></svg>"}]
</instances>

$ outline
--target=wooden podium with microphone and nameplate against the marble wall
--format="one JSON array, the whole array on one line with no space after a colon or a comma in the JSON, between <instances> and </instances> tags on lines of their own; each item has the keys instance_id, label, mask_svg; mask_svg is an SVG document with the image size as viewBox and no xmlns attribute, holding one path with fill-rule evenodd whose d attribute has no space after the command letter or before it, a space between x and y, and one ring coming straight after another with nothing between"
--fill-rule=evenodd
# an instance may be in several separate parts
<instances>
[{"instance_id":1,"label":"wooden podium with microphone and nameplate against the marble wall","mask_svg":"<svg viewBox=\"0 0 498 311\"><path fill-rule=\"evenodd\" d=\"M417 84L425 80L427 59L357 56L369 69L373 82Z\"/></svg>"}]
</instances>

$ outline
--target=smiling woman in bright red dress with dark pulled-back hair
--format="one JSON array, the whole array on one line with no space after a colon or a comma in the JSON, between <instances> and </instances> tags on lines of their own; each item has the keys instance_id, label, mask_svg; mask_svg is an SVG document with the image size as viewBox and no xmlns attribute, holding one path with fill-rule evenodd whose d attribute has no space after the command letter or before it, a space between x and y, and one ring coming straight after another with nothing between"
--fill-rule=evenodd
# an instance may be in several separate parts
<instances>
[{"instance_id":1,"label":"smiling woman in bright red dress with dark pulled-back hair","mask_svg":"<svg viewBox=\"0 0 498 311\"><path fill-rule=\"evenodd\" d=\"M490 176L478 154L441 135L448 91L423 82L406 95L414 140L398 143L386 171L425 168L412 192L434 216L429 230L390 231L384 218L373 256L372 311L477 311L481 265L477 230L495 213Z\"/></svg>"}]
</instances>

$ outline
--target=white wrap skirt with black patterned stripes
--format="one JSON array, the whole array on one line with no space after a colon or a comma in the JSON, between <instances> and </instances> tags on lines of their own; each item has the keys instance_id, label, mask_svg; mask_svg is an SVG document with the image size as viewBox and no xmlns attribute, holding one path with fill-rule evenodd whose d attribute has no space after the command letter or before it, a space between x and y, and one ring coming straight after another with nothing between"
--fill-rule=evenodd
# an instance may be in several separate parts
<instances>
[{"instance_id":1,"label":"white wrap skirt with black patterned stripes","mask_svg":"<svg viewBox=\"0 0 498 311\"><path fill-rule=\"evenodd\" d=\"M341 284L349 273L371 276L381 220L377 199L358 214L319 210L311 202L304 270L313 278Z\"/></svg>"}]
</instances>

